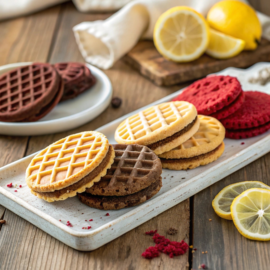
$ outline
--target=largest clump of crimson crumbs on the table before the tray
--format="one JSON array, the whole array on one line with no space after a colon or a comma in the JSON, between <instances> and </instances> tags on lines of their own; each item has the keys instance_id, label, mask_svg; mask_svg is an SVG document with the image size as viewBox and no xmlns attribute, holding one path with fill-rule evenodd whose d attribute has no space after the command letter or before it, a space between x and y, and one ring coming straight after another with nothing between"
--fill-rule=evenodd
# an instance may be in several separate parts
<instances>
[{"instance_id":1,"label":"largest clump of crimson crumbs on the table before the tray","mask_svg":"<svg viewBox=\"0 0 270 270\"><path fill-rule=\"evenodd\" d=\"M159 256L159 252L163 252L173 258L182 255L188 250L188 244L182 240L181 242L170 241L162 235L154 234L154 247L149 247L141 255L146 259L152 259Z\"/></svg>"}]
</instances>

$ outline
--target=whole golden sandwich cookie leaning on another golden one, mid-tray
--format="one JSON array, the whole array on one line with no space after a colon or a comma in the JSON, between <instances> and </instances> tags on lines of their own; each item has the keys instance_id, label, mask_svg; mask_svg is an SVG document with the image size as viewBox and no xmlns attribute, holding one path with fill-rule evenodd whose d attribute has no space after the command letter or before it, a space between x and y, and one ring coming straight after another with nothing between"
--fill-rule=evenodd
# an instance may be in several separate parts
<instances>
[{"instance_id":1,"label":"whole golden sandwich cookie leaning on another golden one, mid-tray","mask_svg":"<svg viewBox=\"0 0 270 270\"><path fill-rule=\"evenodd\" d=\"M198 130L196 117L197 110L189 102L161 103L128 117L117 127L114 138L118 143L145 145L161 154L180 145ZM183 134L177 134L181 130Z\"/></svg>"}]
</instances>

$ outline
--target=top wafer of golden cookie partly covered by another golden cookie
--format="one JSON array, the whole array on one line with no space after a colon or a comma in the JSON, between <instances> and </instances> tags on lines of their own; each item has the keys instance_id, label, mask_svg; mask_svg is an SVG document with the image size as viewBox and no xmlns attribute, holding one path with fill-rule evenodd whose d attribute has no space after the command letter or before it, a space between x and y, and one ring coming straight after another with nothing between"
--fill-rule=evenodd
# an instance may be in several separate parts
<instances>
[{"instance_id":1,"label":"top wafer of golden cookie partly covered by another golden cookie","mask_svg":"<svg viewBox=\"0 0 270 270\"><path fill-rule=\"evenodd\" d=\"M225 137L224 126L214 117L198 115L200 127L187 141L176 148L158 155L161 158L190 158L217 148Z\"/></svg>"}]
</instances>

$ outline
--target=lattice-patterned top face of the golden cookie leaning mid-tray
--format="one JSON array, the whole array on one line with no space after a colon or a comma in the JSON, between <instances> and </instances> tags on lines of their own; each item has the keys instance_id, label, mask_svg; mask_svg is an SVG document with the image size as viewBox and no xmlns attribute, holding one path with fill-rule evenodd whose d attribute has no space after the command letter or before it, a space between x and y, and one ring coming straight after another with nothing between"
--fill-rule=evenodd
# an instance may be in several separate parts
<instances>
[{"instance_id":1,"label":"lattice-patterned top face of the golden cookie leaning mid-tray","mask_svg":"<svg viewBox=\"0 0 270 270\"><path fill-rule=\"evenodd\" d=\"M183 122L183 118L193 110L193 104L185 101L158 104L128 117L117 128L116 134L122 140L136 140L154 131L165 130L176 122Z\"/></svg>"}]
</instances>

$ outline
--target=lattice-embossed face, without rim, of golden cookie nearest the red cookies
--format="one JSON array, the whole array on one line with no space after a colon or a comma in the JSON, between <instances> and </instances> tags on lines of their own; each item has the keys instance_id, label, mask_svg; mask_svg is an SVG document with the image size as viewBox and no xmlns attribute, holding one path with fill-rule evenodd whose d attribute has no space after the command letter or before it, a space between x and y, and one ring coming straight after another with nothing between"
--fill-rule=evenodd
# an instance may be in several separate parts
<instances>
[{"instance_id":1,"label":"lattice-embossed face, without rim, of golden cookie nearest the red cookies","mask_svg":"<svg viewBox=\"0 0 270 270\"><path fill-rule=\"evenodd\" d=\"M198 115L200 127L198 131L187 141L173 150L187 149L193 146L208 144L217 136L220 135L220 122L215 118L205 115Z\"/></svg>"}]
</instances>

